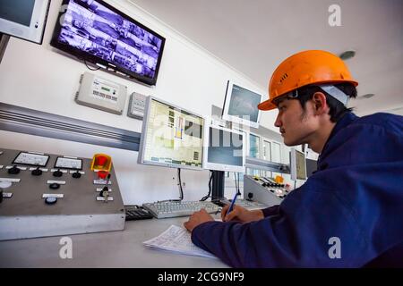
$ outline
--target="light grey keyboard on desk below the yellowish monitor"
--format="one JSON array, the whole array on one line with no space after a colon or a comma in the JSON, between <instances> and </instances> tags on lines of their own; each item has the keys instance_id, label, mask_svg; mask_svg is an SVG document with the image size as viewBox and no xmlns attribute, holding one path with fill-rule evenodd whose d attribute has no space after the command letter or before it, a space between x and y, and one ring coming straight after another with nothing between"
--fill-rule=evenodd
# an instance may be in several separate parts
<instances>
[{"instance_id":1,"label":"light grey keyboard on desk below the yellowish monitor","mask_svg":"<svg viewBox=\"0 0 403 286\"><path fill-rule=\"evenodd\" d=\"M142 206L156 218L188 216L204 208L208 213L217 213L220 207L206 201L167 201L146 203Z\"/></svg>"}]
</instances>

